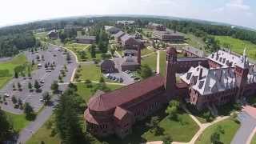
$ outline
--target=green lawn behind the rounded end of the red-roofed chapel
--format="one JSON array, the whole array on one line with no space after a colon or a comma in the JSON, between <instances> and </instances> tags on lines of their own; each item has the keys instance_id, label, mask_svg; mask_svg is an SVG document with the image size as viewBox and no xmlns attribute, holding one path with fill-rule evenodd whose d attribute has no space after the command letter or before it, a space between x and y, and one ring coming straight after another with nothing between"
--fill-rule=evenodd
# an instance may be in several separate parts
<instances>
[{"instance_id":1,"label":"green lawn behind the rounded end of the red-roofed chapel","mask_svg":"<svg viewBox=\"0 0 256 144\"><path fill-rule=\"evenodd\" d=\"M94 89L94 86L96 86L96 84L93 84L92 88L87 88L84 82L79 82L76 83L76 86L78 86L78 94L85 99L86 102L88 102L88 100L90 99L90 97L92 96L93 92L92 90ZM110 90L115 90L118 89L122 86L117 86L117 85L107 85L107 87L110 88Z\"/></svg>"}]
</instances>

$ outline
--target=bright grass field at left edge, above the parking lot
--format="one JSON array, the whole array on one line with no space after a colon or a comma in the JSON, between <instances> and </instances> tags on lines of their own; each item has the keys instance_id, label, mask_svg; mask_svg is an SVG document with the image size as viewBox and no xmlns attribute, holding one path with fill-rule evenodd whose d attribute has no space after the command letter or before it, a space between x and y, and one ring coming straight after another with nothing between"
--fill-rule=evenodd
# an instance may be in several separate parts
<instances>
[{"instance_id":1,"label":"bright grass field at left edge, above the parking lot","mask_svg":"<svg viewBox=\"0 0 256 144\"><path fill-rule=\"evenodd\" d=\"M10 79L13 77L14 68L16 66L21 66L26 63L26 56L24 54L19 54L8 62L0 62L0 71L2 73L0 74L0 89L2 88L2 86L5 86L6 82L9 82Z\"/></svg>"}]
</instances>

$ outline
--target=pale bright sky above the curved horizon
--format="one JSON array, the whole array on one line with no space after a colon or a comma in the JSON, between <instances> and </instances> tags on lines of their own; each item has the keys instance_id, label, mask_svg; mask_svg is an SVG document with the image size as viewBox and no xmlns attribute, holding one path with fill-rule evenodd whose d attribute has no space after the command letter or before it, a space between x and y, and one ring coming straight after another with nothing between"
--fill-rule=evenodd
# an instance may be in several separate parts
<instances>
[{"instance_id":1,"label":"pale bright sky above the curved horizon","mask_svg":"<svg viewBox=\"0 0 256 144\"><path fill-rule=\"evenodd\" d=\"M84 15L146 14L256 29L255 0L1 0L0 26Z\"/></svg>"}]
</instances>

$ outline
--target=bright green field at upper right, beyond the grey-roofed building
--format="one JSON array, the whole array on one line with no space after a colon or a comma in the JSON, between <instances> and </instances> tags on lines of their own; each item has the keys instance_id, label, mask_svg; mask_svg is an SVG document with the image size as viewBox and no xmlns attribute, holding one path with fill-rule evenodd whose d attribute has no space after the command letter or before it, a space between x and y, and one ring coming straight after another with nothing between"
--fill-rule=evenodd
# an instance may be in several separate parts
<instances>
[{"instance_id":1,"label":"bright green field at upper right, beyond the grey-roofed building","mask_svg":"<svg viewBox=\"0 0 256 144\"><path fill-rule=\"evenodd\" d=\"M225 46L226 44L230 44L231 51L234 51L238 54L243 54L244 48L247 46L246 54L249 58L252 58L256 60L256 45L248 42L248 41L242 41L237 38L231 38L228 36L215 36L220 42L222 46Z\"/></svg>"}]
</instances>

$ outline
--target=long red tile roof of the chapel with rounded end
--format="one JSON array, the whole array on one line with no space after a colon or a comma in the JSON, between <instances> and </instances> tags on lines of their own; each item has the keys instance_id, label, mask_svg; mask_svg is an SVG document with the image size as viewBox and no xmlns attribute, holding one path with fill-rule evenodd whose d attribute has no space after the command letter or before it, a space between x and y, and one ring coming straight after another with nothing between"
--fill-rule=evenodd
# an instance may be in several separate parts
<instances>
[{"instance_id":1,"label":"long red tile roof of the chapel with rounded end","mask_svg":"<svg viewBox=\"0 0 256 144\"><path fill-rule=\"evenodd\" d=\"M94 111L111 110L135 98L142 97L144 94L148 94L150 91L156 90L163 85L164 78L160 75L156 75L141 82L135 82L134 84L124 86L118 90L90 98L88 107L90 110Z\"/></svg>"}]
</instances>

